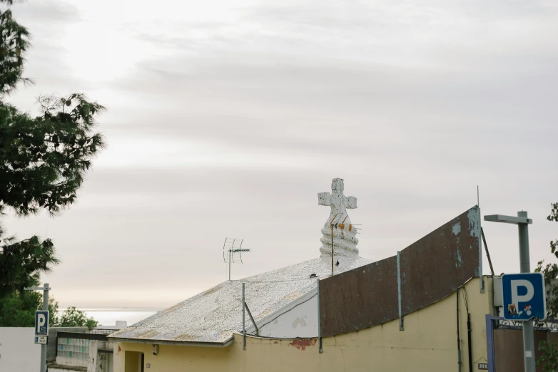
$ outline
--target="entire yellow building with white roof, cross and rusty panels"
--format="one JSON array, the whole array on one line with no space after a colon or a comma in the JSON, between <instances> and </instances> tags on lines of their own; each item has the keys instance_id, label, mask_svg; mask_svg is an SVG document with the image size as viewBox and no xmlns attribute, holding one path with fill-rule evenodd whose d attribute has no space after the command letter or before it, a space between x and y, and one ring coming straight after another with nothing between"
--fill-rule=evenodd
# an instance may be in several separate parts
<instances>
[{"instance_id":1,"label":"entire yellow building with white roof, cross and rusty panels","mask_svg":"<svg viewBox=\"0 0 558 372\"><path fill-rule=\"evenodd\" d=\"M476 371L488 362L492 277L472 207L393 257L359 256L343 180L320 257L225 281L108 336L116 372ZM243 333L245 336L243 336ZM479 364L480 363L480 364Z\"/></svg>"}]
</instances>

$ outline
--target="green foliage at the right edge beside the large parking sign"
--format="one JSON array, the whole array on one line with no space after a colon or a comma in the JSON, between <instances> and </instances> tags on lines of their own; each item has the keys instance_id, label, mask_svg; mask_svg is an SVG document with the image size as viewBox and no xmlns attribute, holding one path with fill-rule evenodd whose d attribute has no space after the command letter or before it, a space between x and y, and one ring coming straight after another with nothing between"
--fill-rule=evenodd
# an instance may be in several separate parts
<instances>
[{"instance_id":1,"label":"green foliage at the right edge beside the large parking sign","mask_svg":"<svg viewBox=\"0 0 558 372\"><path fill-rule=\"evenodd\" d=\"M551 222L558 222L558 203L552 203L550 206L550 215L547 219ZM550 252L558 258L558 240L550 242ZM544 264L539 261L535 272L542 272L544 274L544 281L547 285L547 319L556 319L558 316L558 264ZM558 371L558 348L556 345L541 341L539 343L539 351L542 356L537 361L537 365L542 365L544 371Z\"/></svg>"}]
</instances>

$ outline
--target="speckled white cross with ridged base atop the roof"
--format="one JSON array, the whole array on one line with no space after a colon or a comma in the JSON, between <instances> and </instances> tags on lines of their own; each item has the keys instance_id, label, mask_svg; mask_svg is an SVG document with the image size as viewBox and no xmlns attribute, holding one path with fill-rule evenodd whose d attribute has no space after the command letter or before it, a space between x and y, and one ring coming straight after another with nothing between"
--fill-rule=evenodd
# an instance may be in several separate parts
<instances>
[{"instance_id":1,"label":"speckled white cross with ridged base atop the roof","mask_svg":"<svg viewBox=\"0 0 558 372\"><path fill-rule=\"evenodd\" d=\"M325 221L320 239L322 256L331 255L331 234L333 226L333 252L338 255L358 255L358 239L356 230L350 222L347 210L357 207L356 197L345 197L345 185L342 178L334 178L331 182L331 193L320 192L318 204L331 207L330 217Z\"/></svg>"}]
</instances>

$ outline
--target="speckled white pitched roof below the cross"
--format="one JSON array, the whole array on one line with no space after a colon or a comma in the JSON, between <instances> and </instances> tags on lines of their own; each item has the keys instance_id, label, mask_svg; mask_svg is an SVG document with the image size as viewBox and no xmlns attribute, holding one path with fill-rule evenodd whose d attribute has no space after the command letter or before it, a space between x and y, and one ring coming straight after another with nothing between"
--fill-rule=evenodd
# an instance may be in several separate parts
<instances>
[{"instance_id":1,"label":"speckled white pitched roof below the cross","mask_svg":"<svg viewBox=\"0 0 558 372\"><path fill-rule=\"evenodd\" d=\"M372 262L370 259L337 256L340 274ZM109 337L137 341L175 341L195 343L226 343L233 331L242 329L242 283L245 300L256 322L288 306L293 301L315 290L317 274L320 279L331 275L331 257L310 259L241 280L224 281L207 291L160 311ZM246 326L251 322L246 316ZM132 340L131 340L132 341Z\"/></svg>"}]
</instances>

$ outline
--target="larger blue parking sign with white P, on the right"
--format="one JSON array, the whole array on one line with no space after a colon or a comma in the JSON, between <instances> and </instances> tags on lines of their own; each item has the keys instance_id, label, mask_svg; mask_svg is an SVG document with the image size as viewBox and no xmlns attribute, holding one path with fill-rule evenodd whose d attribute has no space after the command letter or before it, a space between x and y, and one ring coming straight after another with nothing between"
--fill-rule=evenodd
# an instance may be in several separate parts
<instances>
[{"instance_id":1,"label":"larger blue parking sign with white P, on the right","mask_svg":"<svg viewBox=\"0 0 558 372\"><path fill-rule=\"evenodd\" d=\"M527 321L547 317L547 291L539 272L502 275L504 319Z\"/></svg>"}]
</instances>

